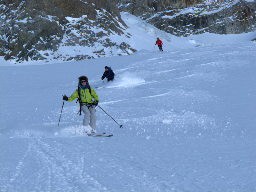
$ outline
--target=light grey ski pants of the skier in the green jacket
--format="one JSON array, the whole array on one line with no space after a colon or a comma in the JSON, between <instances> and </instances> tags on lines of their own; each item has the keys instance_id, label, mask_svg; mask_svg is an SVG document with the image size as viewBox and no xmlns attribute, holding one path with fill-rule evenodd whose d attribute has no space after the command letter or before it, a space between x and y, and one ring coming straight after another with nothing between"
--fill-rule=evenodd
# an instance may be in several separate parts
<instances>
[{"instance_id":1,"label":"light grey ski pants of the skier in the green jacket","mask_svg":"<svg viewBox=\"0 0 256 192\"><path fill-rule=\"evenodd\" d=\"M84 112L83 125L87 126L90 124L92 129L96 127L96 110L94 105L82 105L82 111Z\"/></svg>"}]
</instances>

